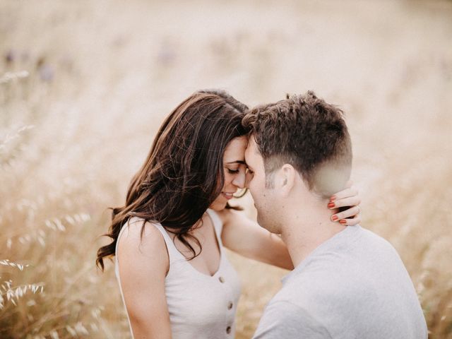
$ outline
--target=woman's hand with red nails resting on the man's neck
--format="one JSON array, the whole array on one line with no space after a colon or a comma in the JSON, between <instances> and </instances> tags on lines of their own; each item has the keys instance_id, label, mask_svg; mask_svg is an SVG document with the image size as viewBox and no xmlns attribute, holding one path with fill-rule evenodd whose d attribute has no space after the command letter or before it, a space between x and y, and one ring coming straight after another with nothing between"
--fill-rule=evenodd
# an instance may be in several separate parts
<instances>
[{"instance_id":1,"label":"woman's hand with red nails resting on the man's neck","mask_svg":"<svg viewBox=\"0 0 452 339\"><path fill-rule=\"evenodd\" d=\"M353 186L334 194L328 203L328 208L335 210L335 214L331 215L331 220L347 226L359 224L361 222L359 203L361 203L359 192Z\"/></svg>"}]
</instances>

